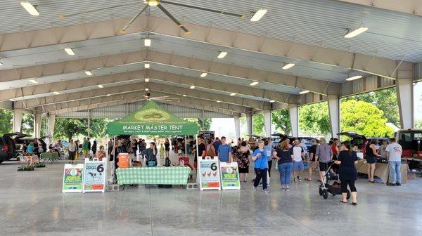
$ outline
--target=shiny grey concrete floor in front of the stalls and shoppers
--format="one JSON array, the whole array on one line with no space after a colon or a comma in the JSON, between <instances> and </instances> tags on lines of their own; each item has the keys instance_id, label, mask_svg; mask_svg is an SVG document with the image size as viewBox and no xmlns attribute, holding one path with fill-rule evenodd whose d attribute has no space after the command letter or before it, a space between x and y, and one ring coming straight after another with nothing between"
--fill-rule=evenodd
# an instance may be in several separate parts
<instances>
[{"instance_id":1,"label":"shiny grey concrete floor in front of the stalls and shoppers","mask_svg":"<svg viewBox=\"0 0 422 236\"><path fill-rule=\"evenodd\" d=\"M402 187L360 179L358 206L323 199L316 181L282 192L276 169L270 194L250 181L240 191L63 194L63 163L32 172L0 165L0 235L422 235L422 178Z\"/></svg>"}]
</instances>

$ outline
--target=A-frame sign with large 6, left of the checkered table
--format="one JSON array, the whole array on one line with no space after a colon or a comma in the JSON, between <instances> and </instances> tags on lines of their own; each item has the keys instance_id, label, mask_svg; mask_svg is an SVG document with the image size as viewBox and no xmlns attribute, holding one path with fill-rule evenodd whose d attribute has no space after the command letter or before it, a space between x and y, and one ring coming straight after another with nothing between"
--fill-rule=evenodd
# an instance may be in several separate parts
<instances>
[{"instance_id":1,"label":"A-frame sign with large 6, left of the checkered table","mask_svg":"<svg viewBox=\"0 0 422 236\"><path fill-rule=\"evenodd\" d=\"M106 161L85 160L82 192L104 192L106 190Z\"/></svg>"}]
</instances>

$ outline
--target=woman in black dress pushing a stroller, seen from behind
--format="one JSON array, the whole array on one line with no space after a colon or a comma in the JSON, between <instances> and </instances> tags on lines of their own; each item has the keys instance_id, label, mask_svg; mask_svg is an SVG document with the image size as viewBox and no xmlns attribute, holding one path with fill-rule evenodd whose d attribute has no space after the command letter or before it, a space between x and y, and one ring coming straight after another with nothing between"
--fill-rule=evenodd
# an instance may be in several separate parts
<instances>
[{"instance_id":1,"label":"woman in black dress pushing a stroller, seen from behind","mask_svg":"<svg viewBox=\"0 0 422 236\"><path fill-rule=\"evenodd\" d=\"M352 205L357 205L357 190L354 181L357 179L357 170L354 167L357 164L357 154L350 149L350 142L345 141L341 144L341 152L338 154L338 160L335 164L340 165L338 173L340 174L342 199L340 202L347 203L347 185L352 192Z\"/></svg>"}]
</instances>

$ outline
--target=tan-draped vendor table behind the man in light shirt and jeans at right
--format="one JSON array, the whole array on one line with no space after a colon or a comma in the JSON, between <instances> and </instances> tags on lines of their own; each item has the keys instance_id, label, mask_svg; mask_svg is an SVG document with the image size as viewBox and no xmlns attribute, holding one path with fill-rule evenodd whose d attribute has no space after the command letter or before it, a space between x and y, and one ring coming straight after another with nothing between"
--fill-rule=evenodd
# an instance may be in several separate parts
<instances>
[{"instance_id":1,"label":"tan-draped vendor table behind the man in light shirt and jeans at right","mask_svg":"<svg viewBox=\"0 0 422 236\"><path fill-rule=\"evenodd\" d=\"M355 166L357 173L368 174L368 166L364 160L359 160ZM409 166L402 163L400 166L400 171L402 172L402 183L407 183L407 169L409 169ZM390 168L388 168L388 164L377 163L375 166L375 173L373 173L373 175L381 178L383 183L388 183L388 181L390 181Z\"/></svg>"}]
</instances>

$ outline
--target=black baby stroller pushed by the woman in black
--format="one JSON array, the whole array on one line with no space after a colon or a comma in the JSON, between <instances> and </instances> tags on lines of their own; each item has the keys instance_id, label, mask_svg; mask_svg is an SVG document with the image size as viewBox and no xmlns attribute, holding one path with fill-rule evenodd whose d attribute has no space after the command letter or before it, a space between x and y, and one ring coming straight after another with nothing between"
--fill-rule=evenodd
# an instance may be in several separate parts
<instances>
[{"instance_id":1,"label":"black baby stroller pushed by the woman in black","mask_svg":"<svg viewBox=\"0 0 422 236\"><path fill-rule=\"evenodd\" d=\"M319 186L319 195L327 199L328 193L331 193L333 196L341 195L341 181L338 176L338 173L331 173L330 169L333 166L334 162L329 163L329 167L325 173L323 182ZM350 198L350 190L347 190L347 199Z\"/></svg>"}]
</instances>

